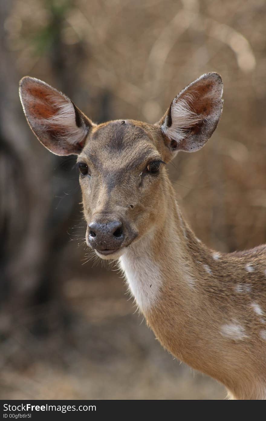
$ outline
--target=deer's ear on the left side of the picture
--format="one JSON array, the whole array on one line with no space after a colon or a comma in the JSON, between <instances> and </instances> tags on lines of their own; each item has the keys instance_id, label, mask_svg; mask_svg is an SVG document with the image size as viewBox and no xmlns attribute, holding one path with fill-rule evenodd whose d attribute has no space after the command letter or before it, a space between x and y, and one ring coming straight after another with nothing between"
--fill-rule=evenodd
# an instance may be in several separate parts
<instances>
[{"instance_id":1,"label":"deer's ear on the left side of the picture","mask_svg":"<svg viewBox=\"0 0 266 421\"><path fill-rule=\"evenodd\" d=\"M19 83L26 119L40 142L56 155L78 155L93 123L63 93L34 77Z\"/></svg>"}]
</instances>

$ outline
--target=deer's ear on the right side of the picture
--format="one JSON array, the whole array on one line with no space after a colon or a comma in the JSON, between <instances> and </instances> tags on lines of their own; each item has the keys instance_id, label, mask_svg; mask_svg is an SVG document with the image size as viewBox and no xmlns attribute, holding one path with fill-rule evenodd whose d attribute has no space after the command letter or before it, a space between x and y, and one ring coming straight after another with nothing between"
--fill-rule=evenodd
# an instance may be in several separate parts
<instances>
[{"instance_id":1,"label":"deer's ear on the right side of the picture","mask_svg":"<svg viewBox=\"0 0 266 421\"><path fill-rule=\"evenodd\" d=\"M159 124L173 151L194 152L211 137L223 108L223 83L217 73L207 73L184 88Z\"/></svg>"}]
</instances>

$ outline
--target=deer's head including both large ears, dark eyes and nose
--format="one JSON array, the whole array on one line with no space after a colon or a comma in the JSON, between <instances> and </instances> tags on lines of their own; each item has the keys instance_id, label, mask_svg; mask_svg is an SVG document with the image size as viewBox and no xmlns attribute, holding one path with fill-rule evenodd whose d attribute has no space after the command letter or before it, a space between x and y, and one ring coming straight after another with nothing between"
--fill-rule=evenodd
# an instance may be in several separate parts
<instances>
[{"instance_id":1,"label":"deer's head including both large ears, dark eyes and nose","mask_svg":"<svg viewBox=\"0 0 266 421\"><path fill-rule=\"evenodd\" d=\"M63 93L32 77L21 80L24 113L40 142L56 155L78 155L86 242L98 256L119 258L166 218L165 164L211 137L222 91L221 77L208 73L184 88L154 125L135 120L97 125Z\"/></svg>"}]
</instances>

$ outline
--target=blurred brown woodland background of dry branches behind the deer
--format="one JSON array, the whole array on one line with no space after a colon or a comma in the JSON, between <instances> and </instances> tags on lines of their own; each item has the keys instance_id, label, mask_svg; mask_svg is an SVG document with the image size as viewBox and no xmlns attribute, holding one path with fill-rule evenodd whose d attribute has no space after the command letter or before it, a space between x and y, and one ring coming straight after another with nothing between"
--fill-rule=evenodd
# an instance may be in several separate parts
<instances>
[{"instance_id":1,"label":"blurred brown woodland background of dry branches behind the deer","mask_svg":"<svg viewBox=\"0 0 266 421\"><path fill-rule=\"evenodd\" d=\"M204 72L224 80L211 141L169 174L221 251L266 242L265 0L0 0L0 398L223 399L87 261L75 157L39 144L18 81L45 80L95 122L157 121Z\"/></svg>"}]
</instances>

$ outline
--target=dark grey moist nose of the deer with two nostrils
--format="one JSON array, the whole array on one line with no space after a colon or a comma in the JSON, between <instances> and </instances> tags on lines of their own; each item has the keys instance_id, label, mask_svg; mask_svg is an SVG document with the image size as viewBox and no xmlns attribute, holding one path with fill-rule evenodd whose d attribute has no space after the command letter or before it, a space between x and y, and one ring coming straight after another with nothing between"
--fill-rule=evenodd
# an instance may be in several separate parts
<instances>
[{"instance_id":1,"label":"dark grey moist nose of the deer with two nostrils","mask_svg":"<svg viewBox=\"0 0 266 421\"><path fill-rule=\"evenodd\" d=\"M104 224L92 222L88 228L88 240L92 248L96 248L96 250L114 250L119 248L124 240L120 221L111 221Z\"/></svg>"}]
</instances>

